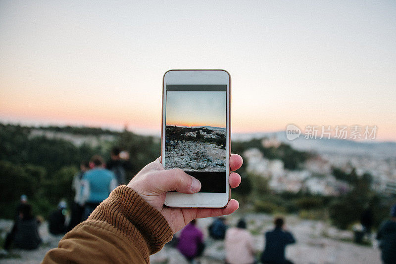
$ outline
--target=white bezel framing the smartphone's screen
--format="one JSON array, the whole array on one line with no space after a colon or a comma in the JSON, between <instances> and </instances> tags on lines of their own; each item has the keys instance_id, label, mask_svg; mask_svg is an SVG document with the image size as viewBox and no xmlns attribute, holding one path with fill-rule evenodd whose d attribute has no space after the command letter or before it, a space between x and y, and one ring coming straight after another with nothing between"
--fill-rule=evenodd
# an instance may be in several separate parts
<instances>
[{"instance_id":1,"label":"white bezel framing the smartphone's screen","mask_svg":"<svg viewBox=\"0 0 396 264\"><path fill-rule=\"evenodd\" d=\"M166 84L225 84L227 85L227 117L226 117L226 192L224 193L194 193L184 194L168 192L165 205L169 207L199 207L223 208L230 200L228 182L229 157L231 153L231 76L225 70L169 70L163 76L162 82L162 130L161 130L161 163L165 167L165 117L166 117Z\"/></svg>"}]
</instances>

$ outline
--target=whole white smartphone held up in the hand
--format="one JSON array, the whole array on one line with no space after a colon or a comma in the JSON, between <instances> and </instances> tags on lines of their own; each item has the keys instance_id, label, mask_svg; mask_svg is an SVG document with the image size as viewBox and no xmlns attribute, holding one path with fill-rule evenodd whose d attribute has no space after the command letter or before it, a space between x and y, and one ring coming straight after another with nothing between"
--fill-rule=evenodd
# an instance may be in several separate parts
<instances>
[{"instance_id":1,"label":"whole white smartphone held up in the hand","mask_svg":"<svg viewBox=\"0 0 396 264\"><path fill-rule=\"evenodd\" d=\"M166 193L169 207L222 208L230 200L231 77L224 70L170 70L163 77L161 162L201 182Z\"/></svg>"}]
</instances>

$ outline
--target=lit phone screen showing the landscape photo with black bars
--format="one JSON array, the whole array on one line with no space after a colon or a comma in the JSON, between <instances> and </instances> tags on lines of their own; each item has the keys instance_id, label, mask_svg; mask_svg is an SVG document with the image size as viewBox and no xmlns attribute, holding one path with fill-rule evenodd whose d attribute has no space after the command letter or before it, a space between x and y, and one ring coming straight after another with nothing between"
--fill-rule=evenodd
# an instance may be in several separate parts
<instances>
[{"instance_id":1,"label":"lit phone screen showing the landscape photo with black bars","mask_svg":"<svg viewBox=\"0 0 396 264\"><path fill-rule=\"evenodd\" d=\"M227 85L166 85L165 169L226 192Z\"/></svg>"}]
</instances>

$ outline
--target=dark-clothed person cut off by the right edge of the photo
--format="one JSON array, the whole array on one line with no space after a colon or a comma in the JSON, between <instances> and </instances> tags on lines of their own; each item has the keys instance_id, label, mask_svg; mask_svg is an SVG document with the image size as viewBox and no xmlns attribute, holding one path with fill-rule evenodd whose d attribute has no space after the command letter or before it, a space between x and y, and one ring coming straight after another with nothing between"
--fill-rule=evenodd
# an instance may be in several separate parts
<instances>
[{"instance_id":1,"label":"dark-clothed person cut off by the right edge of the photo","mask_svg":"<svg viewBox=\"0 0 396 264\"><path fill-rule=\"evenodd\" d=\"M396 204L391 208L391 220L381 225L377 239L384 264L396 263Z\"/></svg>"}]
</instances>

